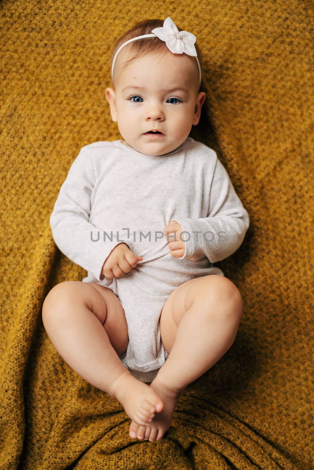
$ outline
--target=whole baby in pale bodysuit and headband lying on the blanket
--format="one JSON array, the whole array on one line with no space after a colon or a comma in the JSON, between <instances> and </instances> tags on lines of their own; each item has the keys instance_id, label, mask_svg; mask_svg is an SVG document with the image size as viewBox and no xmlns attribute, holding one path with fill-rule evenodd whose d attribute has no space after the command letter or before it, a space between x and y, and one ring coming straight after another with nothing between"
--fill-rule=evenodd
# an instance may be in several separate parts
<instances>
[{"instance_id":1,"label":"whole baby in pale bodysuit and headband lying on the blanket","mask_svg":"<svg viewBox=\"0 0 314 470\"><path fill-rule=\"evenodd\" d=\"M73 370L120 401L130 437L150 441L233 344L243 307L213 263L240 247L249 216L216 152L189 137L205 100L195 41L169 17L118 39L106 98L123 140L82 147L50 217L88 275L50 290L44 327Z\"/></svg>"}]
</instances>

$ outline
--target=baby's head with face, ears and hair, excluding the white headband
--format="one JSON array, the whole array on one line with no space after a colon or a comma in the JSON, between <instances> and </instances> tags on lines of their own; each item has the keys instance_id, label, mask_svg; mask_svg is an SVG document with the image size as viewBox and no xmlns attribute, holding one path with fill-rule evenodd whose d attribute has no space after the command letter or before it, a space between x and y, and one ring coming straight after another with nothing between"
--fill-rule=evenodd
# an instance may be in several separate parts
<instances>
[{"instance_id":1,"label":"baby's head with face, ears and hair, excluding the white headband","mask_svg":"<svg viewBox=\"0 0 314 470\"><path fill-rule=\"evenodd\" d=\"M116 41L111 65L115 53L128 39L151 34L163 24L158 19L137 23ZM201 68L201 51L196 42L194 46ZM199 80L195 57L172 53L158 37L137 39L122 47L114 63L112 87L106 88L106 99L123 143L150 156L164 155L181 145L201 117L206 95L199 92ZM152 129L163 135L157 139L152 134L144 135Z\"/></svg>"}]
</instances>

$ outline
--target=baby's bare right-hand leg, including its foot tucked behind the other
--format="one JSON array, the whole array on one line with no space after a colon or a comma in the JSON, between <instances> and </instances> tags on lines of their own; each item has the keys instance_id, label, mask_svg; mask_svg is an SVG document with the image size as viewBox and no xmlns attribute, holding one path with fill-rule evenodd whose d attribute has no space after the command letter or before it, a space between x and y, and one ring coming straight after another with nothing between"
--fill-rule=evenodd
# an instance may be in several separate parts
<instances>
[{"instance_id":1,"label":"baby's bare right-hand leg, including its foot tucked behind the other","mask_svg":"<svg viewBox=\"0 0 314 470\"><path fill-rule=\"evenodd\" d=\"M160 440L169 429L180 393L230 348L241 315L242 297L225 277L208 275L181 284L161 312L161 340L169 357L151 387L164 402L152 423L130 425L130 436Z\"/></svg>"}]
</instances>

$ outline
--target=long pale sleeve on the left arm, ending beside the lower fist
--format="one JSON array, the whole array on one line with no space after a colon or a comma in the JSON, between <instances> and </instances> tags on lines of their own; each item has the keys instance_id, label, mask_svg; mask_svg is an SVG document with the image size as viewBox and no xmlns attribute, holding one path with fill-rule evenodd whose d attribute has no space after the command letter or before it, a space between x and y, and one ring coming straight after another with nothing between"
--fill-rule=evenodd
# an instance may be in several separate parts
<instances>
[{"instance_id":1,"label":"long pale sleeve on the left arm, ending beside the lower fist","mask_svg":"<svg viewBox=\"0 0 314 470\"><path fill-rule=\"evenodd\" d=\"M89 222L95 182L92 156L83 147L60 188L50 216L50 227L59 250L75 264L93 273L98 281L103 281L105 276L101 269L105 259L122 241L112 234L112 241L106 235L106 243L102 243L105 232ZM108 235L111 238L111 234Z\"/></svg>"}]
</instances>

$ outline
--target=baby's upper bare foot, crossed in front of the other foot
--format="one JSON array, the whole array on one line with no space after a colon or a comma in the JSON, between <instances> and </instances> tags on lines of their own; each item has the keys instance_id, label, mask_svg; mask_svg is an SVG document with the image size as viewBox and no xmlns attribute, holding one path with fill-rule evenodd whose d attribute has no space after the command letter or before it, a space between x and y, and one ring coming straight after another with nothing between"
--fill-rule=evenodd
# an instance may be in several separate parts
<instances>
[{"instance_id":1,"label":"baby's upper bare foot, crossed in front of the other foot","mask_svg":"<svg viewBox=\"0 0 314 470\"><path fill-rule=\"evenodd\" d=\"M113 390L126 414L138 424L148 424L156 411L163 409L163 402L153 388L137 380L130 372L116 380Z\"/></svg>"}]
</instances>

